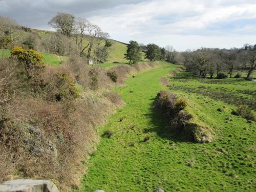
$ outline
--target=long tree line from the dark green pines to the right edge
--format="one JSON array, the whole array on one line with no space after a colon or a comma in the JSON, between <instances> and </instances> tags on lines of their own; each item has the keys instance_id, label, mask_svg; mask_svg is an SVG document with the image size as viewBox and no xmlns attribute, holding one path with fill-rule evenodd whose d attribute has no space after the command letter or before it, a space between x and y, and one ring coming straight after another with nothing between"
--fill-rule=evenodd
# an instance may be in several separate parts
<instances>
[{"instance_id":1,"label":"long tree line from the dark green pines to the right edge","mask_svg":"<svg viewBox=\"0 0 256 192\"><path fill-rule=\"evenodd\" d=\"M184 65L186 69L198 77L209 75L213 78L232 77L234 72L246 71L246 79L250 79L251 74L256 69L256 45L245 44L242 48L218 49L200 48L198 50L176 51L172 46L161 48L156 44L138 44L131 40L127 44L127 51L124 58L129 63L137 63L142 59L142 52L145 59L150 61L165 60L171 63ZM237 73L237 78L241 77Z\"/></svg>"}]
</instances>

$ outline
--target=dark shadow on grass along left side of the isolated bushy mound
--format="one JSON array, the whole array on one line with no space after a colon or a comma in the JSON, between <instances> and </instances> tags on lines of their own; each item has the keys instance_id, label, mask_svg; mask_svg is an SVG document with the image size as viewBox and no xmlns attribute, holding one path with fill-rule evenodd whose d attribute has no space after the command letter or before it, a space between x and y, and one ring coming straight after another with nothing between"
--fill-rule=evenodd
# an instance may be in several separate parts
<instances>
[{"instance_id":1,"label":"dark shadow on grass along left side of the isolated bushy mound","mask_svg":"<svg viewBox=\"0 0 256 192\"><path fill-rule=\"evenodd\" d=\"M161 112L156 109L155 106L155 100L151 105L150 108L150 113L145 114L148 118L151 119L151 123L153 124L153 127L149 129L144 129L144 133L150 133L150 132L156 132L161 138L163 139L168 139L172 140L175 142L193 142L194 140L191 138L187 138L184 134L182 133L173 133L169 129L169 120L161 114Z\"/></svg>"}]
</instances>

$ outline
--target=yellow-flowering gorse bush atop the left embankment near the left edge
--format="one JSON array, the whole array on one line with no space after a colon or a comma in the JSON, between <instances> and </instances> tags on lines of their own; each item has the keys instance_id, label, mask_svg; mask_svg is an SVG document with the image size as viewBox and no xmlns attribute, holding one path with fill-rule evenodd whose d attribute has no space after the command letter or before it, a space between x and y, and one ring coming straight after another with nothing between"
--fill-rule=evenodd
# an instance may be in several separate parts
<instances>
[{"instance_id":1,"label":"yellow-flowering gorse bush atop the left embankment near the left edge","mask_svg":"<svg viewBox=\"0 0 256 192\"><path fill-rule=\"evenodd\" d=\"M42 61L44 57L33 49L25 50L21 47L15 46L11 50L11 56L24 64L27 73L45 68L44 62Z\"/></svg>"}]
</instances>

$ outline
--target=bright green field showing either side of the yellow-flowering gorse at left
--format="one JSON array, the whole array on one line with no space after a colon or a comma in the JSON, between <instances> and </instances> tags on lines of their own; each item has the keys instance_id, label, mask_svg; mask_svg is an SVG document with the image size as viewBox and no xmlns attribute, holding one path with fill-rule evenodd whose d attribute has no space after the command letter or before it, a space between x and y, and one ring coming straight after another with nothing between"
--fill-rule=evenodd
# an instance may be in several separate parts
<instances>
[{"instance_id":1,"label":"bright green field showing either side of the yellow-flowering gorse at left","mask_svg":"<svg viewBox=\"0 0 256 192\"><path fill-rule=\"evenodd\" d=\"M44 63L50 66L58 66L60 65L61 61L65 61L68 57L58 56L55 54L50 53L42 53L39 52L44 56ZM11 56L11 51L9 49L0 49L0 59L9 58Z\"/></svg>"}]
</instances>

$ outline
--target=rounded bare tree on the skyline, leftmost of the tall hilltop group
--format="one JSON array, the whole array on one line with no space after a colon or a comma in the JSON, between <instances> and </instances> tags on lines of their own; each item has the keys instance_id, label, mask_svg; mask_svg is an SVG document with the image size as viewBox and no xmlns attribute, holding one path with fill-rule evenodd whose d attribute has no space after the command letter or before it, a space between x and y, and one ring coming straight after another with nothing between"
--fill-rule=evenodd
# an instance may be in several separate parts
<instances>
[{"instance_id":1,"label":"rounded bare tree on the skyline, leftmost of the tall hilltop group","mask_svg":"<svg viewBox=\"0 0 256 192\"><path fill-rule=\"evenodd\" d=\"M50 22L49 26L61 30L63 35L71 36L74 28L75 17L69 13L58 13L54 16Z\"/></svg>"}]
</instances>

